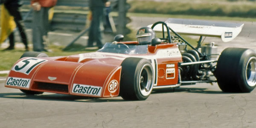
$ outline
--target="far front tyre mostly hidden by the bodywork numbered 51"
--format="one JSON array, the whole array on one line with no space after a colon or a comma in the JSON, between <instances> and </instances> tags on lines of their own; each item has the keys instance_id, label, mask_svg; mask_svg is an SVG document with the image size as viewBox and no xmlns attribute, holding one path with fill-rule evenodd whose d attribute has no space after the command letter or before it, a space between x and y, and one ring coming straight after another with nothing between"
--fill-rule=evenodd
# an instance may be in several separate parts
<instances>
[{"instance_id":1,"label":"far front tyre mostly hidden by the bodywork numbered 51","mask_svg":"<svg viewBox=\"0 0 256 128\"><path fill-rule=\"evenodd\" d=\"M21 55L20 58L23 58L23 57L48 57L48 55L42 52L25 52L23 55ZM32 95L44 93L44 92L23 90L23 89L20 89L20 91L22 91L23 93L32 94Z\"/></svg>"}]
</instances>

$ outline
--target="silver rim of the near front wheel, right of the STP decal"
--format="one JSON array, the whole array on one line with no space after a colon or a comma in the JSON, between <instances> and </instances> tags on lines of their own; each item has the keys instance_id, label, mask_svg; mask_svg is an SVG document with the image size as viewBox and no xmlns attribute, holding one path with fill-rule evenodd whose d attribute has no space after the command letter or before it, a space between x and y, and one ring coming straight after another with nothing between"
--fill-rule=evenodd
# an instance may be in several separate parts
<instances>
[{"instance_id":1,"label":"silver rim of the near front wheel, right of the STP decal","mask_svg":"<svg viewBox=\"0 0 256 128\"><path fill-rule=\"evenodd\" d=\"M153 73L149 64L145 64L140 70L139 89L143 96L148 96L153 88Z\"/></svg>"}]
</instances>

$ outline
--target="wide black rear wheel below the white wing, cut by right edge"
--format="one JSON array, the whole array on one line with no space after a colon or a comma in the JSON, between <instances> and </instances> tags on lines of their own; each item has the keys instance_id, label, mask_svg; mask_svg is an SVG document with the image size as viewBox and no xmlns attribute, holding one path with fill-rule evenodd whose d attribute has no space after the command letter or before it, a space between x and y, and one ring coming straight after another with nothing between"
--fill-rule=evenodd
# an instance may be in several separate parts
<instances>
[{"instance_id":1,"label":"wide black rear wheel below the white wing, cut by right edge","mask_svg":"<svg viewBox=\"0 0 256 128\"><path fill-rule=\"evenodd\" d=\"M251 92L256 87L256 52L244 48L224 49L214 74L223 92Z\"/></svg>"}]
</instances>

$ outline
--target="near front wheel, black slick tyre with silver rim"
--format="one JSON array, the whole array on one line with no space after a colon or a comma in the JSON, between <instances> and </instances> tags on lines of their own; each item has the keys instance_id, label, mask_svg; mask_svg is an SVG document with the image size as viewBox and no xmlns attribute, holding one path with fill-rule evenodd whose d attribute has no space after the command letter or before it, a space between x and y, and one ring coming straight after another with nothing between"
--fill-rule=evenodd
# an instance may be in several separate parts
<instances>
[{"instance_id":1,"label":"near front wheel, black slick tyre with silver rim","mask_svg":"<svg viewBox=\"0 0 256 128\"><path fill-rule=\"evenodd\" d=\"M144 58L125 58L121 64L120 96L125 100L145 100L151 94L154 73Z\"/></svg>"}]
</instances>

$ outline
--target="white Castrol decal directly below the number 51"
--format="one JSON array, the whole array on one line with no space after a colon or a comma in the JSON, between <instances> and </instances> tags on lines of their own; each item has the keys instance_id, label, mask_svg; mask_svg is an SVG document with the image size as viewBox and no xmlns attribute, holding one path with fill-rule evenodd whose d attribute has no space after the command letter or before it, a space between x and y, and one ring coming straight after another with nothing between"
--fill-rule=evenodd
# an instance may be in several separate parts
<instances>
[{"instance_id":1,"label":"white Castrol decal directly below the number 51","mask_svg":"<svg viewBox=\"0 0 256 128\"><path fill-rule=\"evenodd\" d=\"M6 85L29 88L31 79L8 77Z\"/></svg>"}]
</instances>

